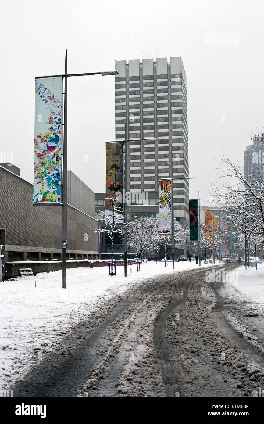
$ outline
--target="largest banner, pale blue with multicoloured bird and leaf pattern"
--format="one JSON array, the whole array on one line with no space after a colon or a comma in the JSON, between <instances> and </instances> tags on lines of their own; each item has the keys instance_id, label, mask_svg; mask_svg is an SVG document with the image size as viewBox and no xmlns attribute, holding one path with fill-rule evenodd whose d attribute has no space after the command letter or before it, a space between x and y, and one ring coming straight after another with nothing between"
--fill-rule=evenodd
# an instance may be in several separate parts
<instances>
[{"instance_id":1,"label":"largest banner, pale blue with multicoloured bird and leaf pattern","mask_svg":"<svg viewBox=\"0 0 264 424\"><path fill-rule=\"evenodd\" d=\"M35 85L33 204L61 203L62 77Z\"/></svg>"}]
</instances>

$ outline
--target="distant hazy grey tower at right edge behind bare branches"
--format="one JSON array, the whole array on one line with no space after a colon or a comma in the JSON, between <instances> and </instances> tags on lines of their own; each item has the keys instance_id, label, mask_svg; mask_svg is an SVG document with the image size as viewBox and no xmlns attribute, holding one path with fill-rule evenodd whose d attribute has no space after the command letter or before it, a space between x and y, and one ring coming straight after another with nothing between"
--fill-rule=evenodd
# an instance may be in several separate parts
<instances>
[{"instance_id":1,"label":"distant hazy grey tower at right edge behind bare branches","mask_svg":"<svg viewBox=\"0 0 264 424\"><path fill-rule=\"evenodd\" d=\"M253 184L252 176L264 183L264 136L253 138L253 145L246 146L244 151L245 179Z\"/></svg>"}]
</instances>

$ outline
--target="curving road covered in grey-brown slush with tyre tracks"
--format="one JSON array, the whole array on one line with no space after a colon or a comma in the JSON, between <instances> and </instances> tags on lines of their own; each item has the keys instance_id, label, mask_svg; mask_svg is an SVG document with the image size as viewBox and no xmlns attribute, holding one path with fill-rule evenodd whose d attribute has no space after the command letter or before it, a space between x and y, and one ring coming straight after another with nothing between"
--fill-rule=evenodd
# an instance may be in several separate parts
<instances>
[{"instance_id":1,"label":"curving road covered in grey-brown slush with tyre tracks","mask_svg":"<svg viewBox=\"0 0 264 424\"><path fill-rule=\"evenodd\" d=\"M14 396L253 396L263 390L261 333L252 335L256 322L242 318L250 306L233 295L232 285L208 282L206 271L139 280L107 298L95 316L67 332L63 349L44 356L12 387Z\"/></svg>"}]
</instances>

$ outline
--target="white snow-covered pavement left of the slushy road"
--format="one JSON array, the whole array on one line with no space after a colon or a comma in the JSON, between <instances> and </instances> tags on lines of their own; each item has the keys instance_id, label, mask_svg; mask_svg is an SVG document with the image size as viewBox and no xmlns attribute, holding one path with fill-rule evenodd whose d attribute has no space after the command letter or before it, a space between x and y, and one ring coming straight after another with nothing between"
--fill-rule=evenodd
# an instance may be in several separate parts
<instances>
[{"instance_id":1,"label":"white snow-covered pavement left of the slushy road","mask_svg":"<svg viewBox=\"0 0 264 424\"><path fill-rule=\"evenodd\" d=\"M202 267L210 268L212 265ZM42 351L52 352L69 329L91 316L100 305L142 279L177 271L195 270L194 261L143 263L117 267L108 276L107 267L67 270L67 288L61 288L61 271L39 273L0 283L0 387L8 388L42 360ZM130 272L131 270L131 272ZM74 349L74 346L72 346Z\"/></svg>"}]
</instances>

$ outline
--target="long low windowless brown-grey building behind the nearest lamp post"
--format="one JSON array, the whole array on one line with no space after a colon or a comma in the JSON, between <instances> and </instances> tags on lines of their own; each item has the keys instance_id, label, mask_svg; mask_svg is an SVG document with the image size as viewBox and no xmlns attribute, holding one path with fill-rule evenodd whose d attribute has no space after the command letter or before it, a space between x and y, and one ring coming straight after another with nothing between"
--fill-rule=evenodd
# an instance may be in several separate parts
<instances>
[{"instance_id":1,"label":"long low windowless brown-grey building behind the nearest lamp post","mask_svg":"<svg viewBox=\"0 0 264 424\"><path fill-rule=\"evenodd\" d=\"M60 260L61 207L33 206L33 184L22 179L18 168L12 166L0 164L0 244L4 271L9 261ZM94 192L68 171L67 259L98 257L94 205Z\"/></svg>"}]
</instances>

